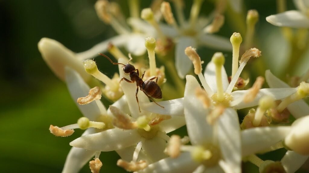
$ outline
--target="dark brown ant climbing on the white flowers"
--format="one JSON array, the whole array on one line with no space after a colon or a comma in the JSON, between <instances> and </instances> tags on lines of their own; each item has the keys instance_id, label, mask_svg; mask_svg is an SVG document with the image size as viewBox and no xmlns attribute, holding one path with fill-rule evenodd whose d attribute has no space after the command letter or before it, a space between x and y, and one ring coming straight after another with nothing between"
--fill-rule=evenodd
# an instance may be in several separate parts
<instances>
[{"instance_id":1,"label":"dark brown ant climbing on the white flowers","mask_svg":"<svg viewBox=\"0 0 309 173\"><path fill-rule=\"evenodd\" d=\"M101 56L104 56L105 58L107 58L112 64L121 64L123 65L122 67L122 70L123 72L125 72L125 74L130 74L130 78L131 78L131 81L126 79L126 78L121 78L121 80L119 81L119 83L122 81L122 80L125 80L126 82L129 82L129 83L134 83L136 82L136 86L137 86L137 89L136 89L136 94L135 94L135 97L136 97L136 101L138 103L138 97L137 97L137 93L138 93L138 87L141 89L141 91L143 91L146 96L153 102L155 102L152 98L157 98L157 99L160 99L162 98L162 91L161 91L161 88L159 87L159 85L157 84L158 82L158 76L155 76L149 80L145 80L143 81L143 77L144 77L144 74L145 74L145 71L143 72L142 74L142 78L139 77L139 71L138 69L135 69L135 67L132 65L132 64L129 64L129 62L132 60L132 57L130 56L130 60L128 61L127 64L122 64L122 63L114 63L110 58L108 58L108 56L102 54L102 53L99 53L99 55ZM135 72L136 71L136 72ZM156 79L156 81L153 81L154 79ZM151 98L152 97L152 98ZM157 102L155 102L155 104L159 105ZM163 106L159 105L160 107L164 108ZM139 103L138 103L138 109L139 109L139 112L141 112L141 108L139 107Z\"/></svg>"}]
</instances>

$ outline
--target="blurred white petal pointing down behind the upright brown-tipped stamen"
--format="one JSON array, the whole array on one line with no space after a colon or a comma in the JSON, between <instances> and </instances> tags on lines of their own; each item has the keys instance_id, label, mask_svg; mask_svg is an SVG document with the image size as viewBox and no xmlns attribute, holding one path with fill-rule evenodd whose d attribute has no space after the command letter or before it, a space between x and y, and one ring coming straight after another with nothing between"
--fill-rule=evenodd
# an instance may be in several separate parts
<instances>
[{"instance_id":1,"label":"blurred white petal pointing down behind the upright brown-tipped stamen","mask_svg":"<svg viewBox=\"0 0 309 173\"><path fill-rule=\"evenodd\" d=\"M178 76L184 79L184 76L188 74L193 64L192 61L184 54L186 47L197 47L195 39L192 37L180 37L175 47L175 66L178 72Z\"/></svg>"}]
</instances>

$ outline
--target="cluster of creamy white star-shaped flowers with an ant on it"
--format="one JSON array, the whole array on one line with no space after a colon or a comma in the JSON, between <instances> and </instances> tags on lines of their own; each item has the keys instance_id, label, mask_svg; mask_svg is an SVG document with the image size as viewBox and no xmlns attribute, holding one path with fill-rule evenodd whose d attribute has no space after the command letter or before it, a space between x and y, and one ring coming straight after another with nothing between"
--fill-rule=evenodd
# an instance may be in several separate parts
<instances>
[{"instance_id":1,"label":"cluster of creamy white star-shaped flowers with an ant on it","mask_svg":"<svg viewBox=\"0 0 309 173\"><path fill-rule=\"evenodd\" d=\"M43 59L66 82L84 116L68 126L50 125L55 136L85 130L70 142L72 149L62 172L78 172L89 160L91 172L99 172L104 169L99 159L104 151L116 151L121 159L115 165L140 173L240 173L242 162L255 164L260 172L295 172L309 157L309 106L303 100L309 95L309 75L290 87L267 70L265 78L258 76L250 84L240 75L247 64L257 62L252 59L261 56L259 49L251 48L257 11L248 11L242 44L240 33L233 33L230 40L213 35L224 24L226 8L238 13L240 1L218 0L205 19L199 17L203 0L194 0L188 20L184 2L172 2L178 23L169 2L155 1L152 8L139 13L137 0L129 1L131 16L126 23L117 4L98 0L95 10L99 19L119 35L81 53L53 39L43 38L38 43ZM305 1L295 2L301 12L287 11L267 17L267 21L277 26L286 21L284 26L308 27L307 7L301 5ZM224 68L222 52L214 53L203 72L204 61L196 51L201 46L232 51L231 76ZM125 47L128 56L118 47ZM116 60L102 54L106 51ZM146 52L149 64L136 61L136 56ZM109 78L101 72L93 59L98 54L110 61L112 68L117 65L119 73ZM174 54L175 58L171 57ZM158 60L163 64L160 68ZM265 80L270 88L263 87ZM113 104L105 107L102 96ZM246 112L241 120L240 112ZM188 136L167 135L185 125ZM256 156L280 148L287 149L280 162Z\"/></svg>"}]
</instances>

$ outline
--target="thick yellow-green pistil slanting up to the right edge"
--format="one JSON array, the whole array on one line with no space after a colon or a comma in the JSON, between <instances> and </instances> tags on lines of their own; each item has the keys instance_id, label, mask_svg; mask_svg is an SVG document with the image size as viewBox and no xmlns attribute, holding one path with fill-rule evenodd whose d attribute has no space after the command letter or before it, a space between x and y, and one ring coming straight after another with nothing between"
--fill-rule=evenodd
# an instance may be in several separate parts
<instances>
[{"instance_id":1,"label":"thick yellow-green pistil slanting up to the right edge","mask_svg":"<svg viewBox=\"0 0 309 173\"><path fill-rule=\"evenodd\" d=\"M307 97L309 95L309 83L301 82L299 84L299 87L297 89L297 92L290 95L289 97L286 97L277 107L278 112L284 111L290 103L293 103L295 101L298 101L304 97Z\"/></svg>"}]
</instances>

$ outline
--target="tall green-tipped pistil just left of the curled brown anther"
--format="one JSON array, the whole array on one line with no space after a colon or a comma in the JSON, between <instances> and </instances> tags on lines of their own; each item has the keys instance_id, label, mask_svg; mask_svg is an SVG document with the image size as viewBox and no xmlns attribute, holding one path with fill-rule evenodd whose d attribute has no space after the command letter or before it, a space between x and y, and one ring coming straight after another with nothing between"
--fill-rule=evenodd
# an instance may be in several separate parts
<instances>
[{"instance_id":1,"label":"tall green-tipped pistil just left of the curled brown anther","mask_svg":"<svg viewBox=\"0 0 309 173\"><path fill-rule=\"evenodd\" d=\"M233 47L232 76L231 76L231 78L233 79L238 69L239 47L241 42L243 41L243 38L239 33L234 32L230 38L230 41Z\"/></svg>"}]
</instances>

